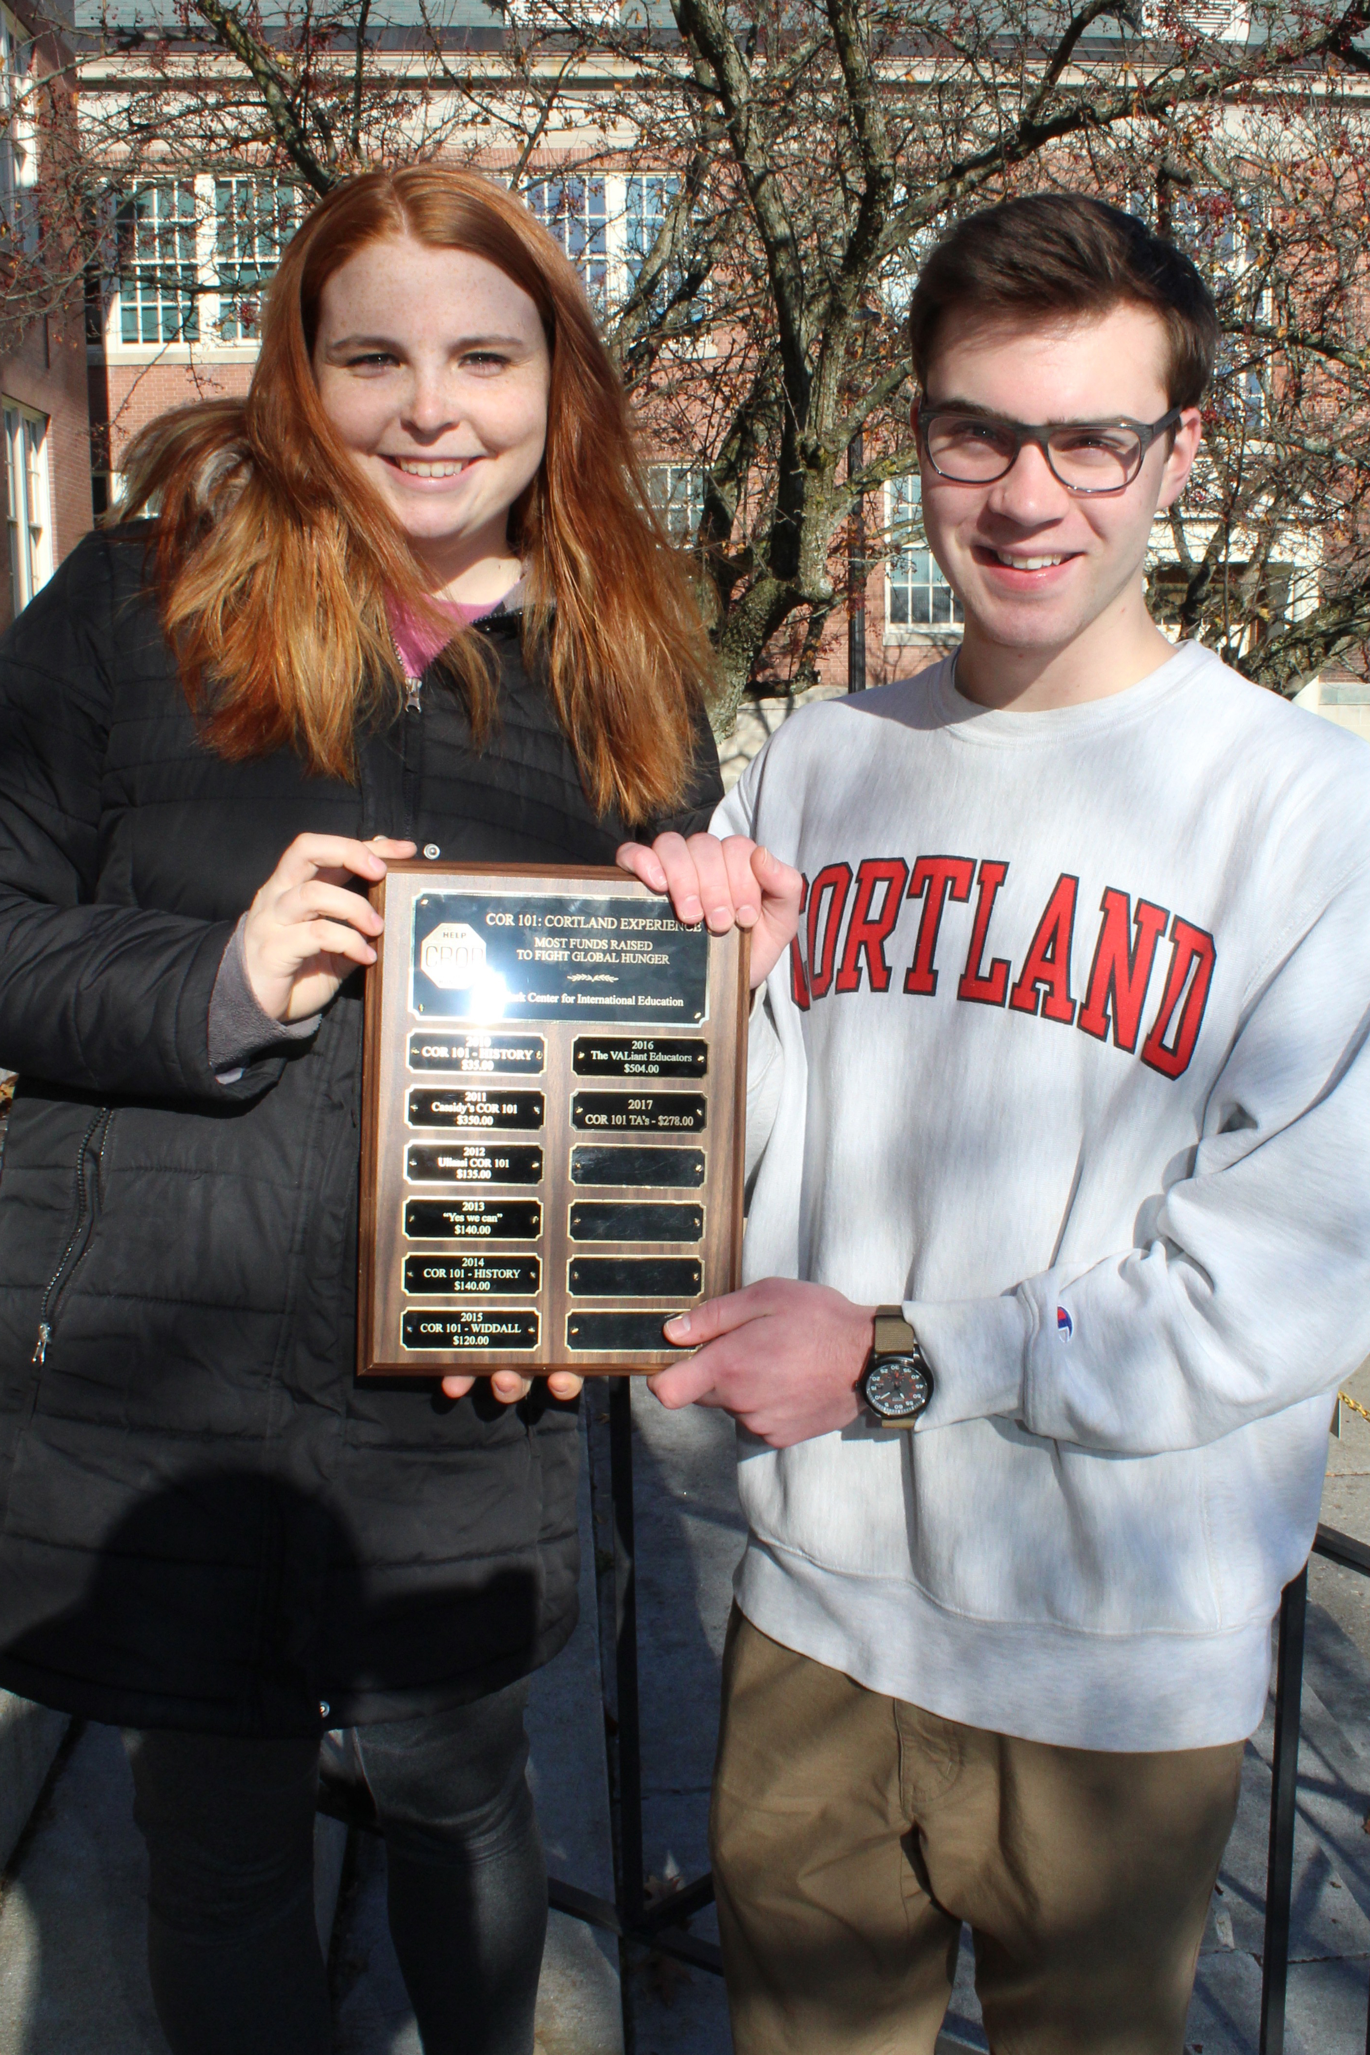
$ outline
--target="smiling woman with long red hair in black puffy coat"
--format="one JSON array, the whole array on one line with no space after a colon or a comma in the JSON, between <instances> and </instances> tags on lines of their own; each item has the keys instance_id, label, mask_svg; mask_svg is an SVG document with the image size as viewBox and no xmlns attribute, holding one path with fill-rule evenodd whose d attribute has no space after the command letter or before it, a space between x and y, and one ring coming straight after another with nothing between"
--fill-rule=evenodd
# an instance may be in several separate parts
<instances>
[{"instance_id":1,"label":"smiling woman with long red hair in black puffy coat","mask_svg":"<svg viewBox=\"0 0 1370 2055\"><path fill-rule=\"evenodd\" d=\"M0 1685L127 1730L175 2055L331 2047L339 1726L427 2055L530 2055L579 1385L353 1377L364 888L705 826L707 641L571 265L470 173L331 193L249 399L125 479L0 643Z\"/></svg>"}]
</instances>

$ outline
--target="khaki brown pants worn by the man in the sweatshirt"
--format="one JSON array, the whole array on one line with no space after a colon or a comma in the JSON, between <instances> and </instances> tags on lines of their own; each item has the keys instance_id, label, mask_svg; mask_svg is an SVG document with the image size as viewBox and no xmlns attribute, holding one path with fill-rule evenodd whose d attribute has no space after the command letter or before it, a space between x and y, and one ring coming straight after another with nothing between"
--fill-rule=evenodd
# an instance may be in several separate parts
<instances>
[{"instance_id":1,"label":"khaki brown pants worn by the man in the sweatshirt","mask_svg":"<svg viewBox=\"0 0 1370 2055\"><path fill-rule=\"evenodd\" d=\"M1105 1755L881 1697L733 1607L711 1845L737 2055L1181 2055L1241 1743Z\"/></svg>"}]
</instances>

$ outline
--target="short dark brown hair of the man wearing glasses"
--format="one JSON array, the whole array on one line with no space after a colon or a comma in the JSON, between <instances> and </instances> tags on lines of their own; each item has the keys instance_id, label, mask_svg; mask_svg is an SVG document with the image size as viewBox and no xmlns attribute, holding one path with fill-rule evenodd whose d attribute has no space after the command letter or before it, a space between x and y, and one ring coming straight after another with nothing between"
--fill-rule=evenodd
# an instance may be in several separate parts
<instances>
[{"instance_id":1,"label":"short dark brown hair of the man wearing glasses","mask_svg":"<svg viewBox=\"0 0 1370 2055\"><path fill-rule=\"evenodd\" d=\"M1052 314L1148 306L1169 337L1171 407L1197 407L1218 353L1218 308L1195 265L1146 222L1084 193L1033 193L967 214L943 236L908 310L914 376L926 386L953 306L1035 325Z\"/></svg>"}]
</instances>

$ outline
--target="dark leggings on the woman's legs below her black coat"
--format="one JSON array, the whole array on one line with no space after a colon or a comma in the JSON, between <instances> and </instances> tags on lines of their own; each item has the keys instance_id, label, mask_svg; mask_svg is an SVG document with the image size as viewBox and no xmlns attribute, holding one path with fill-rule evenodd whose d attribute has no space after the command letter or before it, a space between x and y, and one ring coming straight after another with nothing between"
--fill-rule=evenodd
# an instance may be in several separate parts
<instances>
[{"instance_id":1,"label":"dark leggings on the woman's legs below her black coat","mask_svg":"<svg viewBox=\"0 0 1370 2055\"><path fill-rule=\"evenodd\" d=\"M546 1870L509 1685L353 1730L425 2055L532 2055ZM125 1734L148 1843L148 1967L173 2055L329 2055L314 1930L316 1741Z\"/></svg>"}]
</instances>

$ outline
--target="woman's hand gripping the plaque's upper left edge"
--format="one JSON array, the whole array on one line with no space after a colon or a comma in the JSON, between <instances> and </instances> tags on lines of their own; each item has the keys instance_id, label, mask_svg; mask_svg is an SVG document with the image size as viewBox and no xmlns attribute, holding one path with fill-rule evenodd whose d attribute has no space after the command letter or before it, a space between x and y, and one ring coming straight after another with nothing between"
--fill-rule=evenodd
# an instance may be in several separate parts
<instances>
[{"instance_id":1,"label":"woman's hand gripping the plaque's upper left edge","mask_svg":"<svg viewBox=\"0 0 1370 2055\"><path fill-rule=\"evenodd\" d=\"M378 834L353 843L345 834L296 834L249 906L242 929L246 982L273 1021L302 1021L322 1011L355 964L374 964L368 935L384 921L349 877L378 884L386 861L413 857L413 843Z\"/></svg>"}]
</instances>

